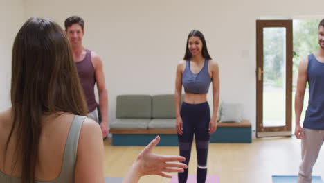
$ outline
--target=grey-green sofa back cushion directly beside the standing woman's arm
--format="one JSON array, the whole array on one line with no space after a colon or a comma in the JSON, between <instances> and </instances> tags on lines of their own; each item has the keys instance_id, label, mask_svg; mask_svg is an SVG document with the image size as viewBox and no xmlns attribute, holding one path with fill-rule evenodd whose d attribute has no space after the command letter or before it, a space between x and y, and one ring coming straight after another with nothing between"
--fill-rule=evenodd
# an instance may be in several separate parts
<instances>
[{"instance_id":1,"label":"grey-green sofa back cushion directly beside the standing woman's arm","mask_svg":"<svg viewBox=\"0 0 324 183\"><path fill-rule=\"evenodd\" d=\"M155 95L152 97L152 117L159 119L175 118L174 95Z\"/></svg>"}]
</instances>

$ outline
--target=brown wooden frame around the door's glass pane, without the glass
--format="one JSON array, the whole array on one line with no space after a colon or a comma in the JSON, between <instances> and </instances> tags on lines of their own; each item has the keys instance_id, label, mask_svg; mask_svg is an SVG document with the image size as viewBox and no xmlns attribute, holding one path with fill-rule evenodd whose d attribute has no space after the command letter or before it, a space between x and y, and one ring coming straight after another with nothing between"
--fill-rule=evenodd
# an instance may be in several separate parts
<instances>
[{"instance_id":1,"label":"brown wooden frame around the door's glass pane, without the glass","mask_svg":"<svg viewBox=\"0 0 324 183\"><path fill-rule=\"evenodd\" d=\"M263 126L263 28L286 28L286 112L285 126ZM292 118L292 19L256 21L256 137L291 136Z\"/></svg>"}]
</instances>

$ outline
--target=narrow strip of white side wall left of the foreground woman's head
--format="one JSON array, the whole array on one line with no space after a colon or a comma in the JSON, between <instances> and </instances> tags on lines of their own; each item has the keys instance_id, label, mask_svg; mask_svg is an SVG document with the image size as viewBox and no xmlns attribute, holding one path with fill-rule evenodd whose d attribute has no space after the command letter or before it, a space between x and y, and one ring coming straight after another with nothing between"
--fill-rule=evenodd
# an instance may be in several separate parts
<instances>
[{"instance_id":1,"label":"narrow strip of white side wall left of the foreground woman's head","mask_svg":"<svg viewBox=\"0 0 324 183\"><path fill-rule=\"evenodd\" d=\"M10 104L11 52L24 22L24 0L0 0L0 111Z\"/></svg>"}]
</instances>

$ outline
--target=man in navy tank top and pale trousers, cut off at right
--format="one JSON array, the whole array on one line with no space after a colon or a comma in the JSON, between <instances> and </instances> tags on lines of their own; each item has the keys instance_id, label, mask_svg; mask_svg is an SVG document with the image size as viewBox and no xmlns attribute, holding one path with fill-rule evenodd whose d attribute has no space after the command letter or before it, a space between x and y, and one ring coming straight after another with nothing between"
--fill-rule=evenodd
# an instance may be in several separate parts
<instances>
[{"instance_id":1,"label":"man in navy tank top and pale trousers, cut off at right","mask_svg":"<svg viewBox=\"0 0 324 183\"><path fill-rule=\"evenodd\" d=\"M295 95L295 135L301 139L302 162L299 167L298 183L311 183L312 170L324 141L324 19L318 25L318 51L300 61ZM309 101L303 128L300 114L306 82L309 84Z\"/></svg>"}]
</instances>

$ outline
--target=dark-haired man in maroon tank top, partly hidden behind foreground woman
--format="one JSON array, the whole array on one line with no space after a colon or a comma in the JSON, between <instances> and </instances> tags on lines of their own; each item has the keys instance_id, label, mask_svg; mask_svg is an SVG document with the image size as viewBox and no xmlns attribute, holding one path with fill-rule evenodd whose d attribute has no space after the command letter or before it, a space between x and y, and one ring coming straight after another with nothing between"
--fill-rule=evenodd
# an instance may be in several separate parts
<instances>
[{"instance_id":1,"label":"dark-haired man in maroon tank top, partly hidden behind foreground woman","mask_svg":"<svg viewBox=\"0 0 324 183\"><path fill-rule=\"evenodd\" d=\"M65 32L69 38L73 52L73 60L78 69L78 76L83 88L88 105L88 117L98 121L98 110L94 86L97 82L100 113L102 122L100 127L102 137L108 134L108 92L105 86L105 76L102 70L102 60L99 55L88 49L84 49L82 38L84 36L84 20L81 17L69 17L64 22Z\"/></svg>"}]
</instances>

